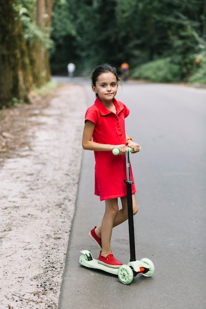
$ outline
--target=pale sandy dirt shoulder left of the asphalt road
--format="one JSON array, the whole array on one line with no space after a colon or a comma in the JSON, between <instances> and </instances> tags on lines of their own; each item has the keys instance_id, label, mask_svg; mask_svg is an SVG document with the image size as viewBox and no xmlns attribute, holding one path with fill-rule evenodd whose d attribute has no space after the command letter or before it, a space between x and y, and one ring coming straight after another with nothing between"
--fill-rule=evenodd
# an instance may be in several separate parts
<instances>
[{"instance_id":1,"label":"pale sandy dirt shoulder left of the asphalt road","mask_svg":"<svg viewBox=\"0 0 206 309\"><path fill-rule=\"evenodd\" d=\"M81 85L63 84L0 111L0 308L58 307L85 97Z\"/></svg>"}]
</instances>

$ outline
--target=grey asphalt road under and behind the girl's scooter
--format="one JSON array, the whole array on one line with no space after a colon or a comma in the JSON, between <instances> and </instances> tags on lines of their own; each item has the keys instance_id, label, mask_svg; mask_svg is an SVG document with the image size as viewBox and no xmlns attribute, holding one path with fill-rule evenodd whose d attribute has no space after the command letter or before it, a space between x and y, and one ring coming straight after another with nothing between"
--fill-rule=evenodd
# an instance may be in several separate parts
<instances>
[{"instance_id":1,"label":"grey asphalt road under and behind the girl's scooter","mask_svg":"<svg viewBox=\"0 0 206 309\"><path fill-rule=\"evenodd\" d=\"M93 104L89 82L74 81L82 82ZM104 213L104 202L93 194L93 153L83 151L59 309L205 309L206 90L128 82L117 98L129 107L126 131L142 148L130 155L139 205L136 258L151 259L156 270L124 285L79 264L83 249L98 258L88 232ZM114 229L112 250L129 262L127 222Z\"/></svg>"}]
</instances>

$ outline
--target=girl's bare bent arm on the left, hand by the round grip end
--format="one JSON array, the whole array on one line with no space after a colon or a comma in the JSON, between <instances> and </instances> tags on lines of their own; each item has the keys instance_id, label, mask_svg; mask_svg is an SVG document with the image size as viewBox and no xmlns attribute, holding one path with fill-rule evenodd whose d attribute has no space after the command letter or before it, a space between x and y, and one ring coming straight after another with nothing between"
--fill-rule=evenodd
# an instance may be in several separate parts
<instances>
[{"instance_id":1,"label":"girl's bare bent arm on the left, hand by the round grip end","mask_svg":"<svg viewBox=\"0 0 206 309\"><path fill-rule=\"evenodd\" d=\"M93 151L112 151L113 148L118 148L120 154L126 153L126 146L123 145L110 145L110 144L100 144L92 141L92 135L94 131L94 123L87 120L84 124L83 137L82 137L82 147L85 150Z\"/></svg>"}]
</instances>

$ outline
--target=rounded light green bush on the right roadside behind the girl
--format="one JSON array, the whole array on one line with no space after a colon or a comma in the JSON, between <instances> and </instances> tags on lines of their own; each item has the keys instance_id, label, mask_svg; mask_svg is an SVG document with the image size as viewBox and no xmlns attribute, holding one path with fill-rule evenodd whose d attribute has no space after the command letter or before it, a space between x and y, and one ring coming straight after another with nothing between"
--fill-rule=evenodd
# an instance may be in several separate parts
<instances>
[{"instance_id":1,"label":"rounded light green bush on the right roadside behind the girl","mask_svg":"<svg viewBox=\"0 0 206 309\"><path fill-rule=\"evenodd\" d=\"M167 57L138 66L131 76L157 82L179 81L181 79L181 68L172 63L170 57Z\"/></svg>"}]
</instances>

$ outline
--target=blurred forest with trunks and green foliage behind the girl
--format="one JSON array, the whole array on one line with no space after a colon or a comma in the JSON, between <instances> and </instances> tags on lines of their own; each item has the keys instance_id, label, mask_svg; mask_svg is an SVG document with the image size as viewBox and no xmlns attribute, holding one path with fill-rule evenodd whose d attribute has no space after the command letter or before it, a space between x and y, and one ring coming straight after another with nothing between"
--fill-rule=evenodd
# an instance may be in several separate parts
<instances>
[{"instance_id":1,"label":"blurred forest with trunks and green foliage behind the girl","mask_svg":"<svg viewBox=\"0 0 206 309\"><path fill-rule=\"evenodd\" d=\"M131 78L206 83L206 0L0 1L0 108L52 75L129 64Z\"/></svg>"}]
</instances>

